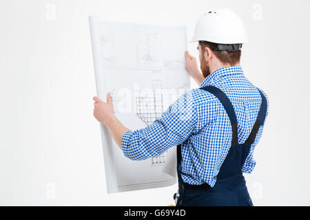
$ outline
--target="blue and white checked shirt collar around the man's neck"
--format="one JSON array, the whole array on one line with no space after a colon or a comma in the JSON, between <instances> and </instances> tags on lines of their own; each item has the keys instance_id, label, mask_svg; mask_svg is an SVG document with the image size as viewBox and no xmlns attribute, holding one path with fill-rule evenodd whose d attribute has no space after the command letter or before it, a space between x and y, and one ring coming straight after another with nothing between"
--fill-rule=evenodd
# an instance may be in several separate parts
<instances>
[{"instance_id":1,"label":"blue and white checked shirt collar around the man's neck","mask_svg":"<svg viewBox=\"0 0 310 220\"><path fill-rule=\"evenodd\" d=\"M217 80L221 76L229 75L229 74L243 74L242 67L236 66L236 67L223 67L220 69L216 69L216 71L212 72L205 80L203 80L203 83L200 84L200 87L206 87L207 85L210 85L214 80Z\"/></svg>"}]
</instances>

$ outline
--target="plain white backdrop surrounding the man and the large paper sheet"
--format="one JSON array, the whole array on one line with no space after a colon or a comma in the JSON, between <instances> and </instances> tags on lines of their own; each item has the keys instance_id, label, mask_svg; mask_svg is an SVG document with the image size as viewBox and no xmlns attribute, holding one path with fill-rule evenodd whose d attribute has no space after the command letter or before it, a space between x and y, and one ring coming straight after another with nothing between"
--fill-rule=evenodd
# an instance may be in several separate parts
<instances>
[{"instance_id":1,"label":"plain white backdrop surrounding the man and the large paper sheet","mask_svg":"<svg viewBox=\"0 0 310 220\"><path fill-rule=\"evenodd\" d=\"M242 67L269 96L254 153L258 164L246 176L254 205L309 206L307 0L1 0L0 205L173 203L176 185L106 193L99 123L92 115L96 89L87 17L184 24L190 39L200 15L214 6L242 17L249 35ZM198 55L195 43L189 51Z\"/></svg>"}]
</instances>

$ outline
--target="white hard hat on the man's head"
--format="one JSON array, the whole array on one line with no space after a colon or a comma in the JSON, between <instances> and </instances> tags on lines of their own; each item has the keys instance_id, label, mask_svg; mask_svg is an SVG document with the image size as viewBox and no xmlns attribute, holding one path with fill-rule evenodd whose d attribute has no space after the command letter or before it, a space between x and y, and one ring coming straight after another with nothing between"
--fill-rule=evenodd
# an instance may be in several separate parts
<instances>
[{"instance_id":1,"label":"white hard hat on the man's head","mask_svg":"<svg viewBox=\"0 0 310 220\"><path fill-rule=\"evenodd\" d=\"M192 41L218 44L247 43L245 26L238 14L228 9L208 11L199 19Z\"/></svg>"}]
</instances>

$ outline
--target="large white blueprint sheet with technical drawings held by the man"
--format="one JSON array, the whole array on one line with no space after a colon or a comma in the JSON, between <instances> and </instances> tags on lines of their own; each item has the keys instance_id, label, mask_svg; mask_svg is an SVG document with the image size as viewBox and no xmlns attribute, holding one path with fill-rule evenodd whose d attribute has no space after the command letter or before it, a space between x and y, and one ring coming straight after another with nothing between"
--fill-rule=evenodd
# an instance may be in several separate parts
<instances>
[{"instance_id":1,"label":"large white blueprint sheet with technical drawings held by the man","mask_svg":"<svg viewBox=\"0 0 310 220\"><path fill-rule=\"evenodd\" d=\"M112 95L114 113L134 131L151 125L189 89L183 25L144 25L90 17L97 95ZM176 147L134 161L101 124L107 192L171 186L176 183Z\"/></svg>"}]
</instances>

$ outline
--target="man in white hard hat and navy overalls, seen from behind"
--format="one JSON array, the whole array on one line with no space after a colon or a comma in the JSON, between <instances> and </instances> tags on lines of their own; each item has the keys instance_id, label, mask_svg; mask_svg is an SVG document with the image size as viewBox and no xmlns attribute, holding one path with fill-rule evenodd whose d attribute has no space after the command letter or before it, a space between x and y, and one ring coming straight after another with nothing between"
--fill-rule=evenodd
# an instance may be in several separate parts
<instances>
[{"instance_id":1,"label":"man in white hard hat and navy overalls, seen from behind","mask_svg":"<svg viewBox=\"0 0 310 220\"><path fill-rule=\"evenodd\" d=\"M267 115L265 93L240 67L245 28L230 10L207 12L198 21L200 74L185 52L189 75L200 85L178 98L153 124L130 131L107 103L94 97L94 116L130 159L147 159L177 146L176 206L253 206L242 173L256 165L254 147Z\"/></svg>"}]
</instances>

